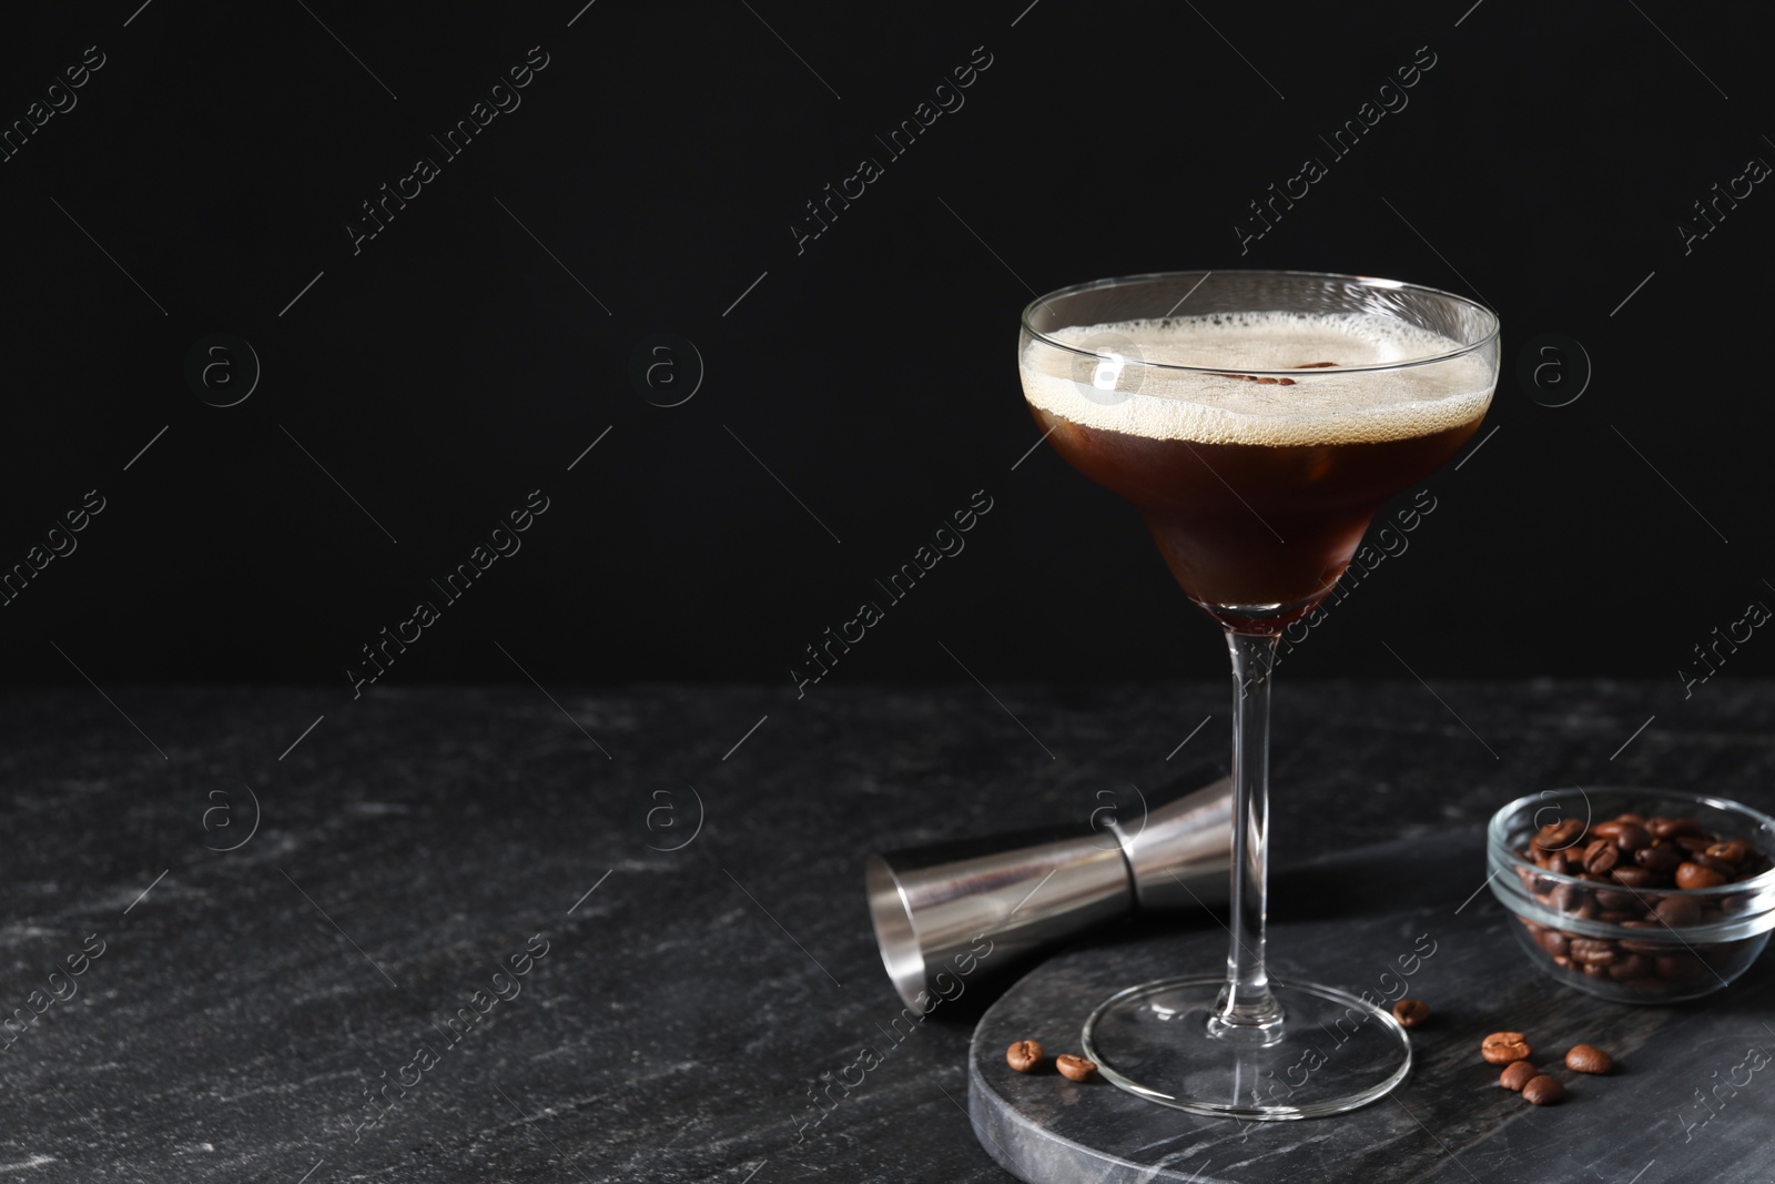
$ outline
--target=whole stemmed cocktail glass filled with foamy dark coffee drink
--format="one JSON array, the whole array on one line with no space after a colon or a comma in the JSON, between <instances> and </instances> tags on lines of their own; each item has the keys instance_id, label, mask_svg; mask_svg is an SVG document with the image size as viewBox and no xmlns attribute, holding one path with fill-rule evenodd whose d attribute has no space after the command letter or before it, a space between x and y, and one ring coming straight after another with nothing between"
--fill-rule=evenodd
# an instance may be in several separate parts
<instances>
[{"instance_id":1,"label":"whole stemmed cocktail glass filled with foamy dark coffee drink","mask_svg":"<svg viewBox=\"0 0 1775 1184\"><path fill-rule=\"evenodd\" d=\"M1399 1021L1264 967L1271 667L1374 513L1479 428L1498 318L1370 277L1166 272L1042 296L1017 362L1047 442L1134 504L1232 653L1227 971L1109 996L1085 1054L1124 1090L1202 1115L1312 1118L1383 1097L1411 1069Z\"/></svg>"}]
</instances>

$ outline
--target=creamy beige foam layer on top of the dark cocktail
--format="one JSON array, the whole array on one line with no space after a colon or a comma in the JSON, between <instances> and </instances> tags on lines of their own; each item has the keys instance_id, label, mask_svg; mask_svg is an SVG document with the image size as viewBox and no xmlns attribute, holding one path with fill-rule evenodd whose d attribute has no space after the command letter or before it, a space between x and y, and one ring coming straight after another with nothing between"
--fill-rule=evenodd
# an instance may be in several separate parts
<instances>
[{"instance_id":1,"label":"creamy beige foam layer on top of the dark cocktail","mask_svg":"<svg viewBox=\"0 0 1775 1184\"><path fill-rule=\"evenodd\" d=\"M1461 344L1367 314L1237 312L1120 321L1049 334L1076 350L1120 353L1125 364L1031 339L1019 359L1024 398L1086 428L1200 444L1358 444L1459 428L1491 403L1482 357L1402 369L1296 369L1310 362L1388 366L1440 357ZM1289 371L1292 385L1140 362Z\"/></svg>"}]
</instances>

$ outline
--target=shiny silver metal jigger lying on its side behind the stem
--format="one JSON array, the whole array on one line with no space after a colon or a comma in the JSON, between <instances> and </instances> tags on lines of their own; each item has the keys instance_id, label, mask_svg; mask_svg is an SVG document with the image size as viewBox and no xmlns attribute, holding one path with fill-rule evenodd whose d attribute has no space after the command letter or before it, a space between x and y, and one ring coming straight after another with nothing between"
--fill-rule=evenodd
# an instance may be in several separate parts
<instances>
[{"instance_id":1,"label":"shiny silver metal jigger lying on its side behind the stem","mask_svg":"<svg viewBox=\"0 0 1775 1184\"><path fill-rule=\"evenodd\" d=\"M1182 783L1198 785L1200 776ZM1100 820L1106 809L1079 825L870 856L875 941L900 998L911 1006L919 996L951 998L982 960L996 971L1136 909L1180 912L1227 902L1228 777L1141 817Z\"/></svg>"}]
</instances>

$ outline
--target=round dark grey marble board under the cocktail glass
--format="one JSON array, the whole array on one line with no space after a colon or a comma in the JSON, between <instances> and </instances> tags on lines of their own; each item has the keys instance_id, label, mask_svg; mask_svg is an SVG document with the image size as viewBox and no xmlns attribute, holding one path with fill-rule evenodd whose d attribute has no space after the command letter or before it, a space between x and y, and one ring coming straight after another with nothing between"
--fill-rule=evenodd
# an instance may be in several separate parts
<instances>
[{"instance_id":1,"label":"round dark grey marble board under the cocktail glass","mask_svg":"<svg viewBox=\"0 0 1775 1184\"><path fill-rule=\"evenodd\" d=\"M1369 849L1278 875L1271 893L1282 905L1269 934L1278 978L1406 992L1434 1008L1413 1031L1411 1077L1392 1095L1331 1118L1237 1122L1156 1106L1100 1079L1067 1081L1053 1056L1081 1051L1085 1017L1108 994L1225 966L1227 934L1212 920L1124 925L1047 960L980 1019L969 1046L980 1145L1031 1184L1768 1180L1775 955L1693 1003L1596 999L1530 967L1507 928L1516 921L1489 893L1463 905L1484 879L1477 861L1431 856L1422 843ZM1406 904L1402 884L1411 902L1434 904ZM1534 1108L1496 1085L1479 1044L1498 1030L1528 1035L1535 1063L1566 1083L1564 1104ZM1014 1072L1005 1049L1015 1040L1040 1040L1047 1067ZM1569 1072L1566 1049L1580 1042L1613 1053L1617 1072Z\"/></svg>"}]
</instances>

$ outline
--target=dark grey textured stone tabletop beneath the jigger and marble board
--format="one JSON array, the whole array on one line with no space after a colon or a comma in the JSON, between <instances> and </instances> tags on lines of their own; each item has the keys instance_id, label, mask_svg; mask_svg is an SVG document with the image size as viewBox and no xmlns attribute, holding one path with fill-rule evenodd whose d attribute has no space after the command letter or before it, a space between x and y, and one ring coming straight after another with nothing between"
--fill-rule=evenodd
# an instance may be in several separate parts
<instances>
[{"instance_id":1,"label":"dark grey textured stone tabletop beneath the jigger and marble board","mask_svg":"<svg viewBox=\"0 0 1775 1184\"><path fill-rule=\"evenodd\" d=\"M1280 1138L1312 1148L1312 1179L1702 1179L1695 1164L1775 1113L1766 1072L1688 1138L1676 1109L1745 1046L1775 1046L1770 960L1716 996L1729 1038L1684 1035L1708 1001L1610 1008L1629 1072L1537 1111L1457 1074L1470 1058L1454 1037L1493 1017L1532 1026L1557 989L1489 895L1456 909L1486 875L1480 824L1521 792L1706 785L1775 806L1775 687L1716 683L1684 703L1674 680L1432 683L1278 685L1278 957L1360 976L1361 934L1431 932L1425 994L1450 1037L1420 1046L1404 1095L1418 1125L1395 1113L1388 1141L1360 1148L1338 1120ZM0 1173L1008 1179L966 1113L992 989L971 983L886 1037L902 1005L863 856L1083 820L1104 788L1154 793L1191 756L1225 753L1227 715L1218 683L992 691L1003 708L971 683L818 687L799 703L774 685L550 687L556 701L527 683L355 703L334 689L11 692ZM1354 847L1440 872L1393 893L1324 875ZM1202 918L1161 939L1211 950L1218 932ZM55 973L69 960L78 976ZM888 1054L857 1083L866 1044ZM834 1077L856 1085L822 1109L813 1093ZM1235 1179L1301 1179L1299 1156L1266 1175L1278 1136L1239 1134L1203 1136L1209 1175L1239 1159Z\"/></svg>"}]
</instances>

